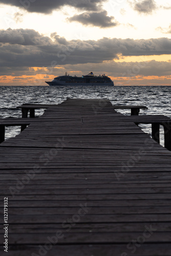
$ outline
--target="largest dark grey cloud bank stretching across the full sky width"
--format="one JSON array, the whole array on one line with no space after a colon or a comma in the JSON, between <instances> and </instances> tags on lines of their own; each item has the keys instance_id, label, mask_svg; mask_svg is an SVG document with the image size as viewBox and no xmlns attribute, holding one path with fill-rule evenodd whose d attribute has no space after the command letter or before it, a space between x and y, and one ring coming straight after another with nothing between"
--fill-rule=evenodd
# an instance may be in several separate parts
<instances>
[{"instance_id":1,"label":"largest dark grey cloud bank stretching across the full sky width","mask_svg":"<svg viewBox=\"0 0 171 256\"><path fill-rule=\"evenodd\" d=\"M56 33L45 37L30 29L0 30L0 66L49 67L100 63L123 56L171 54L171 39L66 40Z\"/></svg>"}]
</instances>

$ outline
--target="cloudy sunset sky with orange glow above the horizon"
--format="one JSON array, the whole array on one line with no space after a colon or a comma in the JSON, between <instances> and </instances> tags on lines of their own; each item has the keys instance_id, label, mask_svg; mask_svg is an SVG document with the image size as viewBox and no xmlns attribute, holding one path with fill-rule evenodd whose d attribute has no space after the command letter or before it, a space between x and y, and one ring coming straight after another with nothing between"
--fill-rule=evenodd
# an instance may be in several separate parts
<instances>
[{"instance_id":1,"label":"cloudy sunset sky with orange glow above the horizon","mask_svg":"<svg viewBox=\"0 0 171 256\"><path fill-rule=\"evenodd\" d=\"M105 74L171 85L169 0L0 0L0 85Z\"/></svg>"}]
</instances>

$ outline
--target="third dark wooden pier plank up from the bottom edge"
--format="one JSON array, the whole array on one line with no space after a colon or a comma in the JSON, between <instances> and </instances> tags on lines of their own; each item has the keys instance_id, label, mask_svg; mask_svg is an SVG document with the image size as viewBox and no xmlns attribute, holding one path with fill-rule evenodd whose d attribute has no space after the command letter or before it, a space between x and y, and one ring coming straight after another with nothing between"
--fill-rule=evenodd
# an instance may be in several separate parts
<instances>
[{"instance_id":1,"label":"third dark wooden pier plank up from the bottom edge","mask_svg":"<svg viewBox=\"0 0 171 256\"><path fill-rule=\"evenodd\" d=\"M170 231L169 229L169 222L153 222L152 224L156 229L157 232L162 231ZM144 226L149 226L149 222L136 222L136 223L79 223L77 222L76 225L72 226L72 235L75 236L77 232L143 232ZM26 234L28 232L36 233L38 236L40 233L45 234L47 232L54 233L58 229L66 231L65 228L61 226L61 223L51 224L45 223L44 229L41 228L41 224L15 224L9 226L10 234L14 234L16 230L18 234ZM0 233L3 233L4 230L0 230ZM90 232L91 233L91 232Z\"/></svg>"}]
</instances>

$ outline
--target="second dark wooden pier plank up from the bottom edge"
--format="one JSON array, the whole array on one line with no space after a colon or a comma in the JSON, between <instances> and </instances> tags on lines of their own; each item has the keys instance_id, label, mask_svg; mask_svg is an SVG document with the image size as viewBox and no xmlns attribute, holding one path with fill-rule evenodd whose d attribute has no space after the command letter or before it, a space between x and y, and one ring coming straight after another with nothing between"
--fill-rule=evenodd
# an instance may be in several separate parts
<instances>
[{"instance_id":1,"label":"second dark wooden pier plank up from the bottom edge","mask_svg":"<svg viewBox=\"0 0 171 256\"><path fill-rule=\"evenodd\" d=\"M69 224L68 224L69 226ZM148 228L150 228L150 225L144 225ZM157 230L156 226L152 225L153 230ZM66 228L67 229L67 228ZM69 228L68 228L69 229ZM63 236L61 236L61 239L59 239L58 241L58 245L62 245L62 244L106 244L106 243L111 243L111 244L119 244L119 243L130 243L130 241L134 240L135 238L138 237L143 237L143 233L144 233L144 229L143 228L141 231L137 231L137 232L96 232L93 230L88 230L85 232L66 232L63 231L62 234ZM60 231L62 231L60 229ZM57 232L57 230L56 230ZM40 243L47 243L49 238L54 238L56 232L47 232L47 234L34 234L34 233L30 233L30 234L9 234L9 240L11 241L11 244L24 244L24 245L28 245L28 244L32 244L32 245L39 245ZM169 243L171 240L171 234L170 232L154 232L153 231L153 236L151 236L151 234L149 232L147 232L148 239L144 238L144 241L147 240L148 243L158 243L158 242L163 242L163 243ZM79 240L78 240L79 238ZM3 239L3 235L0 234L0 239ZM27 242L25 242L27 241Z\"/></svg>"}]
</instances>

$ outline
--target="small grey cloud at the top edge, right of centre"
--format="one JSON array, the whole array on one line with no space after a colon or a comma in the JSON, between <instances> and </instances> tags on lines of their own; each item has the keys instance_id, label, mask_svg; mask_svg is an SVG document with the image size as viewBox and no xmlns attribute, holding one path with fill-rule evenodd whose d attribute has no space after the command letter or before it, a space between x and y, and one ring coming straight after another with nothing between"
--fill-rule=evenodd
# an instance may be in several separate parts
<instances>
[{"instance_id":1,"label":"small grey cloud at the top edge, right of centre","mask_svg":"<svg viewBox=\"0 0 171 256\"><path fill-rule=\"evenodd\" d=\"M143 0L140 2L134 1L133 8L139 13L151 14L157 9L157 5L154 0Z\"/></svg>"}]
</instances>

